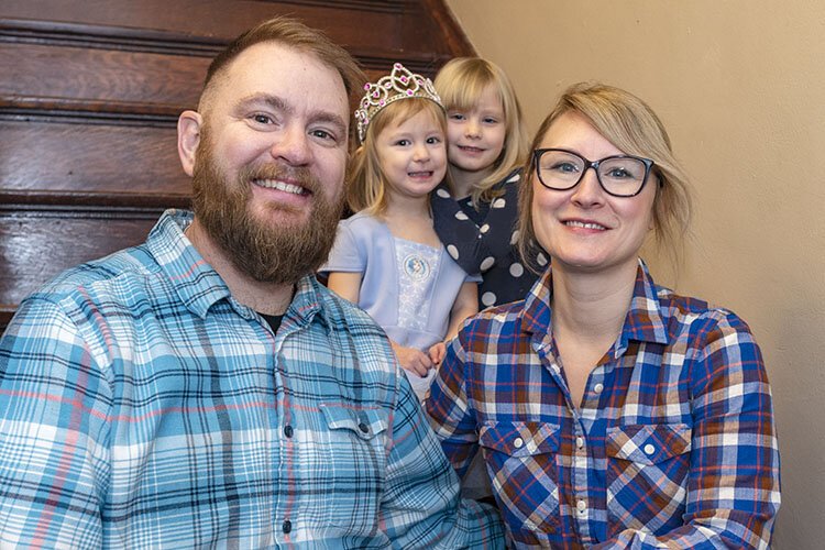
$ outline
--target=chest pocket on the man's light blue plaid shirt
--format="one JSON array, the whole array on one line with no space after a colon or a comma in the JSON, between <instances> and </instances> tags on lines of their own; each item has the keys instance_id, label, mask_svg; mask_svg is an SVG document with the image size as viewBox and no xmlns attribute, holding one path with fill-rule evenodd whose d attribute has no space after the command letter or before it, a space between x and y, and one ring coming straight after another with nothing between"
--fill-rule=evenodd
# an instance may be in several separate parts
<instances>
[{"instance_id":1,"label":"chest pocket on the man's light blue plaid shirt","mask_svg":"<svg viewBox=\"0 0 825 550\"><path fill-rule=\"evenodd\" d=\"M329 529L331 536L367 535L377 527L384 493L386 411L340 403L324 403L320 408L326 422L319 436L323 449L306 458L316 474L306 481L317 485L315 497L308 501L318 505L308 517L317 518L318 528Z\"/></svg>"}]
</instances>

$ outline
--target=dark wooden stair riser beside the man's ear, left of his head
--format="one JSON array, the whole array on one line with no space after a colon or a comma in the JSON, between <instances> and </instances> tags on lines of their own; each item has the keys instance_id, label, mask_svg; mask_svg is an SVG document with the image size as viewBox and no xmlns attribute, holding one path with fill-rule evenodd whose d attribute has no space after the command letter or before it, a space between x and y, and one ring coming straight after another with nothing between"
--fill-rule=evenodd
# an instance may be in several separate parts
<instances>
[{"instance_id":1,"label":"dark wooden stair riser beside the man's ear, left of his head","mask_svg":"<svg viewBox=\"0 0 825 550\"><path fill-rule=\"evenodd\" d=\"M0 120L0 183L7 191L189 196L174 125Z\"/></svg>"}]
</instances>

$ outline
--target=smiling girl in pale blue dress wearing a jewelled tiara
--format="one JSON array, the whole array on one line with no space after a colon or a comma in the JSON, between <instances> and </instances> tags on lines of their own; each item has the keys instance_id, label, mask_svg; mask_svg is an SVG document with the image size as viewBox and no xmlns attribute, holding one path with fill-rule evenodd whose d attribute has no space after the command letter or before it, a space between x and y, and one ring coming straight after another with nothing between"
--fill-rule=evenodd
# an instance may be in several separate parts
<instances>
[{"instance_id":1,"label":"smiling girl in pale blue dress wearing a jewelled tiara","mask_svg":"<svg viewBox=\"0 0 825 550\"><path fill-rule=\"evenodd\" d=\"M413 388L424 398L444 340L479 310L476 282L432 227L430 191L447 172L444 108L432 82L396 63L365 86L355 111L348 202L321 273L387 332Z\"/></svg>"}]
</instances>

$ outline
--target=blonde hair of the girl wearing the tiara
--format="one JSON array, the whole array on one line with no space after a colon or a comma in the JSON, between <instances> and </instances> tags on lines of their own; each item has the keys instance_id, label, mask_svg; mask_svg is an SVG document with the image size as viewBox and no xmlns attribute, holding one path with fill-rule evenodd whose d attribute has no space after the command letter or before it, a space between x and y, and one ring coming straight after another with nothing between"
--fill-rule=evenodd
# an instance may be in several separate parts
<instances>
[{"instance_id":1,"label":"blonde hair of the girl wearing the tiara","mask_svg":"<svg viewBox=\"0 0 825 550\"><path fill-rule=\"evenodd\" d=\"M372 216L382 216L386 211L387 176L381 167L376 141L381 132L391 124L403 124L421 111L429 113L432 121L438 123L447 140L444 111L430 99L409 98L395 101L378 111L370 121L364 143L353 153L348 170L346 205L353 212L363 210Z\"/></svg>"}]
</instances>

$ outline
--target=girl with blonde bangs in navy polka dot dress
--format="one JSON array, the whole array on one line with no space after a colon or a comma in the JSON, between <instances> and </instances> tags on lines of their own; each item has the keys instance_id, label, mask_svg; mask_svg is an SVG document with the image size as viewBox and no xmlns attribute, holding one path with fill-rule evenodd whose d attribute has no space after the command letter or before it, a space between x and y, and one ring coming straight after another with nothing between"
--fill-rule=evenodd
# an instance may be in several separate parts
<instances>
[{"instance_id":1,"label":"girl with blonde bangs in navy polka dot dress","mask_svg":"<svg viewBox=\"0 0 825 550\"><path fill-rule=\"evenodd\" d=\"M477 57L452 59L435 84L447 107L451 176L432 194L436 232L464 271L481 273L481 307L520 300L538 275L515 246L527 134L513 85ZM537 260L547 265L543 254Z\"/></svg>"}]
</instances>

